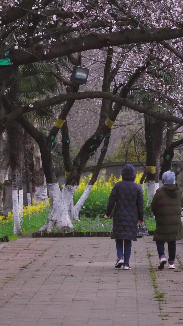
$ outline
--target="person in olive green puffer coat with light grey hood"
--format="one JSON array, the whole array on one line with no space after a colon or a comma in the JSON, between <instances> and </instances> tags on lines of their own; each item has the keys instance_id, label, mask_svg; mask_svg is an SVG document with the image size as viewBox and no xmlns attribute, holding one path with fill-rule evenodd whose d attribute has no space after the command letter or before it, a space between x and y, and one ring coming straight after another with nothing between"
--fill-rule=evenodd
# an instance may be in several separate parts
<instances>
[{"instance_id":1,"label":"person in olive green puffer coat with light grey hood","mask_svg":"<svg viewBox=\"0 0 183 326\"><path fill-rule=\"evenodd\" d=\"M181 223L181 192L182 189L175 184L175 173L167 171L162 176L163 186L159 188L152 200L151 208L155 215L156 230L153 241L156 241L159 254L158 269L163 269L167 262L164 254L164 243L168 243L168 268L175 268L176 240L183 238Z\"/></svg>"}]
</instances>

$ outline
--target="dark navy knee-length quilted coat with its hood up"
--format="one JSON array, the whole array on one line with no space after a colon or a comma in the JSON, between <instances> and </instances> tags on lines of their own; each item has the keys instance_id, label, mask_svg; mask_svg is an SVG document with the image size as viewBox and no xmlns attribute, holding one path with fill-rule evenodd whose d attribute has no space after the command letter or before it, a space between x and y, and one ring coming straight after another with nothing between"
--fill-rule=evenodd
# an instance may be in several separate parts
<instances>
[{"instance_id":1,"label":"dark navy knee-length quilted coat with its hood up","mask_svg":"<svg viewBox=\"0 0 183 326\"><path fill-rule=\"evenodd\" d=\"M114 209L112 239L137 241L137 223L143 220L142 190L135 181L136 171L127 164L122 170L123 181L117 182L109 197L106 215Z\"/></svg>"}]
</instances>

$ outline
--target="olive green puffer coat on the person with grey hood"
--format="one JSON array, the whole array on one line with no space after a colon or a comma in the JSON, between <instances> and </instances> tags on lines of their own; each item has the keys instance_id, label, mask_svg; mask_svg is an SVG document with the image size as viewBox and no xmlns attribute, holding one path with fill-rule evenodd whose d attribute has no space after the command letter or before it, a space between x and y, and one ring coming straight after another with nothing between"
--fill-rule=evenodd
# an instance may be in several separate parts
<instances>
[{"instance_id":1,"label":"olive green puffer coat on the person with grey hood","mask_svg":"<svg viewBox=\"0 0 183 326\"><path fill-rule=\"evenodd\" d=\"M178 185L163 185L156 190L151 204L156 220L153 241L170 242L183 238L181 191Z\"/></svg>"}]
</instances>

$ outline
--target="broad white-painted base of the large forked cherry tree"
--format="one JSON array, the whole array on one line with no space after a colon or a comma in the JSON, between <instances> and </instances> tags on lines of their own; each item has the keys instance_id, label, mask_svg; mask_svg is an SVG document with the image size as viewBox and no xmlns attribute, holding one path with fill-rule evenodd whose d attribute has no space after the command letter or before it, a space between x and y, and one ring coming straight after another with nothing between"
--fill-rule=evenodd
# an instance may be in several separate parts
<instances>
[{"instance_id":1,"label":"broad white-painted base of the large forked cherry tree","mask_svg":"<svg viewBox=\"0 0 183 326\"><path fill-rule=\"evenodd\" d=\"M73 229L68 210L73 198L74 186L66 185L61 192L58 183L48 184L47 186L52 207L46 224L40 231L51 232L54 226L59 230Z\"/></svg>"}]
</instances>

